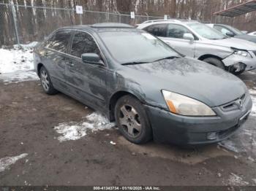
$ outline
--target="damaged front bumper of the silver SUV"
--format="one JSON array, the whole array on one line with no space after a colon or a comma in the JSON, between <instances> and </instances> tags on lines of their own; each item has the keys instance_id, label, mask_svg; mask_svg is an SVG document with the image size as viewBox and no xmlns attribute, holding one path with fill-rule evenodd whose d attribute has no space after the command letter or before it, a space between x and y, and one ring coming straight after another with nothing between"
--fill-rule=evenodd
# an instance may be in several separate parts
<instances>
[{"instance_id":1,"label":"damaged front bumper of the silver SUV","mask_svg":"<svg viewBox=\"0 0 256 191\"><path fill-rule=\"evenodd\" d=\"M250 71L256 69L256 55L254 51L248 51L252 57L232 54L224 58L222 62L227 67L228 71Z\"/></svg>"}]
</instances>

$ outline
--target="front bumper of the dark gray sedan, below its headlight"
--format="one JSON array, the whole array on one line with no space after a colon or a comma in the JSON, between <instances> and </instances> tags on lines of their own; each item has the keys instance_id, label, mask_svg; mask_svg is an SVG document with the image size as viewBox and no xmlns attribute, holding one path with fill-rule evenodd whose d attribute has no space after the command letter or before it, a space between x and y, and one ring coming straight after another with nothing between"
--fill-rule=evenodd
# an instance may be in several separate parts
<instances>
[{"instance_id":1,"label":"front bumper of the dark gray sedan, below its headlight","mask_svg":"<svg viewBox=\"0 0 256 191\"><path fill-rule=\"evenodd\" d=\"M242 109L228 112L215 107L216 117L187 117L154 106L145 107L155 141L178 145L211 144L227 139L241 127L252 109L252 100L247 95ZM209 133L214 132L217 138L208 139Z\"/></svg>"}]
</instances>

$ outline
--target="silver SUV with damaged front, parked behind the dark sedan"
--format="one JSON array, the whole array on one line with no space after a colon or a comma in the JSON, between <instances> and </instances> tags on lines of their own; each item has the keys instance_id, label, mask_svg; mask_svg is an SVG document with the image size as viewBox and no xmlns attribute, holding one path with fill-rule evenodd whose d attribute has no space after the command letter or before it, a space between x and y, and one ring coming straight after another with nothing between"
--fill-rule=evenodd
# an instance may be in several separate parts
<instances>
[{"instance_id":1,"label":"silver SUV with damaged front, parked behind the dark sedan","mask_svg":"<svg viewBox=\"0 0 256 191\"><path fill-rule=\"evenodd\" d=\"M194 20L148 20L138 28L158 36L178 52L241 74L256 69L256 44L229 38Z\"/></svg>"}]
</instances>

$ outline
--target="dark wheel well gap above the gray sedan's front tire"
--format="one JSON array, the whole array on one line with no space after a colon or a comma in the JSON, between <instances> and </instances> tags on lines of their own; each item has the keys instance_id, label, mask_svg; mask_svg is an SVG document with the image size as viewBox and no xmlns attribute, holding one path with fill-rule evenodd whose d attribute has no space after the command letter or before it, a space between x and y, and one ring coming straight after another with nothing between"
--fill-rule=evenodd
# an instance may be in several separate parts
<instances>
[{"instance_id":1,"label":"dark wheel well gap above the gray sedan's front tire","mask_svg":"<svg viewBox=\"0 0 256 191\"><path fill-rule=\"evenodd\" d=\"M126 91L119 91L119 92L115 93L114 95L112 95L112 97L110 98L110 102L109 102L110 103L109 104L109 119L110 119L110 122L115 121L116 102L118 101L119 98L123 97L124 95L132 95L133 97L137 98L132 93L129 93L129 92L126 92ZM138 100L140 100L140 99L138 99Z\"/></svg>"}]
</instances>

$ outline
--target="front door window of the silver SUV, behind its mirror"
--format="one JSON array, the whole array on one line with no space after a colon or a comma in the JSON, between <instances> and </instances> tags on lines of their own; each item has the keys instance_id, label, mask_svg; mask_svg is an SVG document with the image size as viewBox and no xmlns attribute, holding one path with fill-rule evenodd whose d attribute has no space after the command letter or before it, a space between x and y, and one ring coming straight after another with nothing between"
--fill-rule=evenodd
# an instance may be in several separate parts
<instances>
[{"instance_id":1,"label":"front door window of the silver SUV, behind its mirror","mask_svg":"<svg viewBox=\"0 0 256 191\"><path fill-rule=\"evenodd\" d=\"M183 39L185 33L191 34L191 32L184 26L169 24L167 28L167 37Z\"/></svg>"}]
</instances>

